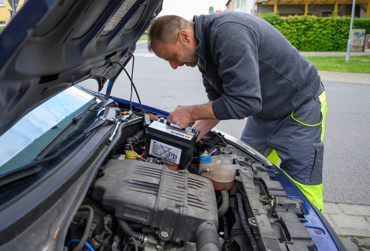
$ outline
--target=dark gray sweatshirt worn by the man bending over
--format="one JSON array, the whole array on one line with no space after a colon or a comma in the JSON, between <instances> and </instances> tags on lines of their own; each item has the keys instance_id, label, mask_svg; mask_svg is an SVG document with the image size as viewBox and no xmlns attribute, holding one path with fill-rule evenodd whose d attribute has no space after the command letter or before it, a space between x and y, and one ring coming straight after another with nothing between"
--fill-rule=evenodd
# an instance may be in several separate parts
<instances>
[{"instance_id":1,"label":"dark gray sweatshirt worn by the man bending over","mask_svg":"<svg viewBox=\"0 0 370 251\"><path fill-rule=\"evenodd\" d=\"M217 119L281 118L318 90L316 66L262 18L227 11L193 21L198 67Z\"/></svg>"}]
</instances>

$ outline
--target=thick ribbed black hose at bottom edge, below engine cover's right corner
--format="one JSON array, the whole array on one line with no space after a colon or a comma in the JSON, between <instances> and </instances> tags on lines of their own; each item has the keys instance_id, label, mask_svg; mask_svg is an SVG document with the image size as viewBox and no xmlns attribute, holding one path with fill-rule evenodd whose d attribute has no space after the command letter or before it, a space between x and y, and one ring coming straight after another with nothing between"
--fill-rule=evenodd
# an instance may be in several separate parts
<instances>
[{"instance_id":1,"label":"thick ribbed black hose at bottom edge, below engine cover's right corner","mask_svg":"<svg viewBox=\"0 0 370 251\"><path fill-rule=\"evenodd\" d=\"M221 251L220 237L212 222L203 222L196 230L196 251Z\"/></svg>"}]
</instances>

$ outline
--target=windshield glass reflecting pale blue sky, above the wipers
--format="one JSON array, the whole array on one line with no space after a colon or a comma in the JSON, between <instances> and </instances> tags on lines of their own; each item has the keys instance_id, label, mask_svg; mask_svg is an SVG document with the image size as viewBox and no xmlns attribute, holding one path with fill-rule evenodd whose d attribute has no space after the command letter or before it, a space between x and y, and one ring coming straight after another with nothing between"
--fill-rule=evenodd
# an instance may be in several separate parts
<instances>
[{"instance_id":1,"label":"windshield glass reflecting pale blue sky, above the wipers","mask_svg":"<svg viewBox=\"0 0 370 251\"><path fill-rule=\"evenodd\" d=\"M0 174L34 161L75 115L101 102L78 87L70 87L39 105L0 136Z\"/></svg>"}]
</instances>

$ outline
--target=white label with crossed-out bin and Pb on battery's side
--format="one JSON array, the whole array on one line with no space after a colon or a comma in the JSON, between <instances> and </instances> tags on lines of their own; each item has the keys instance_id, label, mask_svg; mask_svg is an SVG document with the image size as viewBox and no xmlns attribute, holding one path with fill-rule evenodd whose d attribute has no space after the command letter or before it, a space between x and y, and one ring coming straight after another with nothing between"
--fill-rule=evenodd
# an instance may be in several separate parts
<instances>
[{"instance_id":1,"label":"white label with crossed-out bin and Pb on battery's side","mask_svg":"<svg viewBox=\"0 0 370 251\"><path fill-rule=\"evenodd\" d=\"M181 149L159 142L158 140L152 139L150 141L149 154L179 164Z\"/></svg>"}]
</instances>

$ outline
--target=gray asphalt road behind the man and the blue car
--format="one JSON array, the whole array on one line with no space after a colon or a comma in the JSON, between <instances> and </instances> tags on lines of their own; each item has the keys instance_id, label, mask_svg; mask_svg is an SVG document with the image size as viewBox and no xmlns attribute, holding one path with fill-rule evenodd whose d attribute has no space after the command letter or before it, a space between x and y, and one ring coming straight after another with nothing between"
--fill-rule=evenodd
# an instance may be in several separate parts
<instances>
[{"instance_id":1,"label":"gray asphalt road behind the man and the blue car","mask_svg":"<svg viewBox=\"0 0 370 251\"><path fill-rule=\"evenodd\" d=\"M133 81L142 104L172 111L179 104L208 102L198 67L173 70L168 62L151 55L146 45L137 46L134 55ZM129 73L131 63L127 66ZM95 80L81 85L95 91L98 88ZM324 86L328 107L324 201L370 205L370 86L344 83L324 83ZM105 88L101 92L105 93ZM130 85L124 72L116 80L111 95L129 100ZM132 100L137 102L135 93ZM240 138L245 121L221 121L216 127Z\"/></svg>"}]
</instances>

